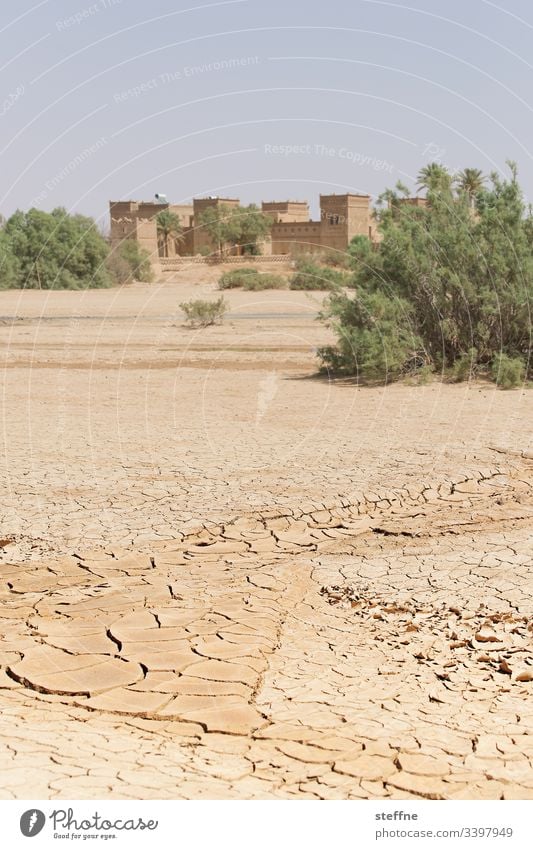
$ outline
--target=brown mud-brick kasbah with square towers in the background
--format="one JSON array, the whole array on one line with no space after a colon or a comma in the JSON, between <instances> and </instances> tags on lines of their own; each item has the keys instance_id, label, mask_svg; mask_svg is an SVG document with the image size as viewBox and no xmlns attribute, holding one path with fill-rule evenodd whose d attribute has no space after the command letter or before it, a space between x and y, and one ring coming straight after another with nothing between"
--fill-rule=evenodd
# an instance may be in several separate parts
<instances>
[{"instance_id":1,"label":"brown mud-brick kasbah with square towers in the background","mask_svg":"<svg viewBox=\"0 0 533 849\"><path fill-rule=\"evenodd\" d=\"M157 197L157 196L156 196ZM207 207L238 207L238 198L194 198L192 204L157 201L110 201L111 242L116 248L125 239L133 239L150 254L154 269L169 267L180 257L215 253L208 233L201 224ZM163 245L158 239L157 216L169 210L178 216L182 227L180 240ZM272 219L270 234L261 243L263 256L286 257L324 250L345 251L354 236L377 241L378 234L369 195L320 195L320 220L311 220L307 201L264 201L262 212ZM238 256L241 248L228 255Z\"/></svg>"}]
</instances>

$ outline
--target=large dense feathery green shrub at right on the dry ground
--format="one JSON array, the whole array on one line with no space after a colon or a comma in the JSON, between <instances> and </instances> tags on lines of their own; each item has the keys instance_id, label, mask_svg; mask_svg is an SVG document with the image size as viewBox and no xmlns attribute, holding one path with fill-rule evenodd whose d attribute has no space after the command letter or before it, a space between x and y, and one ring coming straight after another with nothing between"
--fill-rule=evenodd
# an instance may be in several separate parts
<instances>
[{"instance_id":1,"label":"large dense feathery green shrub at right on the dry ground","mask_svg":"<svg viewBox=\"0 0 533 849\"><path fill-rule=\"evenodd\" d=\"M337 334L335 362L342 371L390 379L409 368L412 357L418 356L415 348L428 365L456 379L488 372L499 353L526 368L533 218L512 164L511 169L510 180L493 174L490 187L481 184L474 198L461 187L454 191L451 178L443 179L442 174L427 181L426 207L402 204L399 193L388 193L387 208L378 212L380 244L374 248L368 240L357 239L349 248L355 296L334 292L325 313ZM369 300L373 295L380 296L380 305L390 301L389 308L374 314L375 334L403 340L393 345L392 369L379 345L368 344L365 307L376 306L378 302ZM359 309L349 306L354 300ZM415 345L403 344L406 316L411 337L418 340ZM331 352L321 356L328 367L335 359Z\"/></svg>"}]
</instances>

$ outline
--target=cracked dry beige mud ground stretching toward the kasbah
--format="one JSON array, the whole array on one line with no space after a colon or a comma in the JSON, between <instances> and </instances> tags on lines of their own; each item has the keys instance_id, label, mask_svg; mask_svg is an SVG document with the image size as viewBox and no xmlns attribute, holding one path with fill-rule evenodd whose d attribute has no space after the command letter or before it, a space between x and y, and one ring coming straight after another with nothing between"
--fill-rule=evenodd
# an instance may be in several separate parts
<instances>
[{"instance_id":1,"label":"cracked dry beige mud ground stretching toward the kasbah","mask_svg":"<svg viewBox=\"0 0 533 849\"><path fill-rule=\"evenodd\" d=\"M1 796L533 798L533 391L210 274L0 293Z\"/></svg>"}]
</instances>

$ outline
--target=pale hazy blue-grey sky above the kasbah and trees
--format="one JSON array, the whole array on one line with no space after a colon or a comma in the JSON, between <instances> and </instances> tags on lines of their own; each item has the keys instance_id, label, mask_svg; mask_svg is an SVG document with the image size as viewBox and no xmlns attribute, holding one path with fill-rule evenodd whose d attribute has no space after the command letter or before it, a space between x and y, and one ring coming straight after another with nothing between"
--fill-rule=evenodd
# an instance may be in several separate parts
<instances>
[{"instance_id":1,"label":"pale hazy blue-grey sky above the kasbah and trees","mask_svg":"<svg viewBox=\"0 0 533 849\"><path fill-rule=\"evenodd\" d=\"M525 0L42 0L0 13L0 212L416 192L429 161L533 197Z\"/></svg>"}]
</instances>

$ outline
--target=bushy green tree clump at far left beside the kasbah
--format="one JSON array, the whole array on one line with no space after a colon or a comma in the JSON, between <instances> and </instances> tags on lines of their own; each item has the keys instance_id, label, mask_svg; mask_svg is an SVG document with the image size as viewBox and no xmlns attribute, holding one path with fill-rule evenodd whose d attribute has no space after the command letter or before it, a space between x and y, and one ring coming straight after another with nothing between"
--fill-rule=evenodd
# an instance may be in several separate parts
<instances>
[{"instance_id":1,"label":"bushy green tree clump at far left beside the kasbah","mask_svg":"<svg viewBox=\"0 0 533 849\"><path fill-rule=\"evenodd\" d=\"M109 246L95 222L62 208L15 212L2 230L16 257L16 285L29 289L81 289L110 286Z\"/></svg>"}]
</instances>

